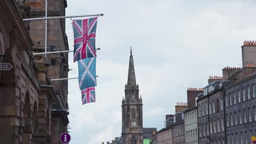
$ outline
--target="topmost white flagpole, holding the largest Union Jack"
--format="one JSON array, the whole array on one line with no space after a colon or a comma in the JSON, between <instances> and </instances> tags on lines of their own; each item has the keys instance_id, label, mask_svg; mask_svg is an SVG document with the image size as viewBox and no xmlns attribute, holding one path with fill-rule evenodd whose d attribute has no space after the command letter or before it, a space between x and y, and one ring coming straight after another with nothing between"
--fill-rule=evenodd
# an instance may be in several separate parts
<instances>
[{"instance_id":1,"label":"topmost white flagpole, holding the largest Union Jack","mask_svg":"<svg viewBox=\"0 0 256 144\"><path fill-rule=\"evenodd\" d=\"M53 19L68 19L73 17L88 17L88 16L103 16L104 14L95 14L95 15L71 15L71 16L55 16L55 17L38 17L31 19L23 19L23 21L38 21L38 20L53 20Z\"/></svg>"}]
</instances>

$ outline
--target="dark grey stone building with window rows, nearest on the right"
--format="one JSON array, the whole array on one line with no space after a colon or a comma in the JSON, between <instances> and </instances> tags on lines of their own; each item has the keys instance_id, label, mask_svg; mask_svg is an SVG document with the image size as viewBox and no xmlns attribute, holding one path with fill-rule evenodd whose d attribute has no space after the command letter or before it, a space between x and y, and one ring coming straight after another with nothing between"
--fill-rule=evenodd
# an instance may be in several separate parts
<instances>
[{"instance_id":1,"label":"dark grey stone building with window rows, nearest on the right","mask_svg":"<svg viewBox=\"0 0 256 144\"><path fill-rule=\"evenodd\" d=\"M243 68L238 71L236 81L225 87L227 143L251 143L251 137L256 135L255 70L256 68ZM246 71L254 72L249 75L245 74Z\"/></svg>"}]
</instances>

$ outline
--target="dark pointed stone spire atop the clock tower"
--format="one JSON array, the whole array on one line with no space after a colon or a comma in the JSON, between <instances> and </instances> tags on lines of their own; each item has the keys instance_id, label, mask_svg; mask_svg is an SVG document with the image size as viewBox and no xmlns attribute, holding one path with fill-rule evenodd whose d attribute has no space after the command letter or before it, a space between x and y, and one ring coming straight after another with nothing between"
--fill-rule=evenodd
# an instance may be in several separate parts
<instances>
[{"instance_id":1,"label":"dark pointed stone spire atop the clock tower","mask_svg":"<svg viewBox=\"0 0 256 144\"><path fill-rule=\"evenodd\" d=\"M132 57L132 48L130 49L130 62L129 62L129 71L128 71L128 81L127 86L136 86L136 78L135 78L135 70L133 64L133 57Z\"/></svg>"}]
</instances>

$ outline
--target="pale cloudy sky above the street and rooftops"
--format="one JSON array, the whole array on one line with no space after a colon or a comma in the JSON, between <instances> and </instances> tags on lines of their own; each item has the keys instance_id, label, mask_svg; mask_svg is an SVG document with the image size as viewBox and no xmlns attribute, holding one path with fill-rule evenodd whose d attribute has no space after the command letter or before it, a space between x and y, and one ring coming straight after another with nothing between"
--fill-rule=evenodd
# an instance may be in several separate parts
<instances>
[{"instance_id":1,"label":"pale cloudy sky above the street and rooftops","mask_svg":"<svg viewBox=\"0 0 256 144\"><path fill-rule=\"evenodd\" d=\"M130 45L143 100L143 127L164 127L187 88L202 88L222 69L242 67L241 46L256 36L255 1L72 0L66 15L98 18L96 103L82 105L78 80L68 81L72 144L98 144L121 134L121 100ZM81 18L78 18L81 19ZM72 20L66 19L73 50ZM69 55L69 77L78 76Z\"/></svg>"}]
</instances>

